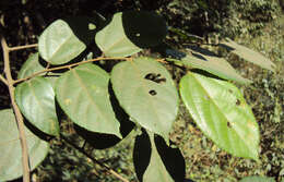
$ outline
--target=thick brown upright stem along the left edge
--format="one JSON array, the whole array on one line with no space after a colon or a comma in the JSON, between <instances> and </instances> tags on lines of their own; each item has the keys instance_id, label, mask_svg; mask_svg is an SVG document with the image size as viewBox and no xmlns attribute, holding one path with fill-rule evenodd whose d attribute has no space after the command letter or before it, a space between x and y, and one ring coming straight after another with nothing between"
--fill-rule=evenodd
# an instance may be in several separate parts
<instances>
[{"instance_id":1,"label":"thick brown upright stem along the left edge","mask_svg":"<svg viewBox=\"0 0 284 182\"><path fill-rule=\"evenodd\" d=\"M10 58L9 58L9 47L7 45L7 41L4 37L1 37L1 46L3 49L3 59L4 59L4 73L7 77L7 84L9 88L10 99L12 102L12 107L14 110L17 128L19 128L19 134L20 134L20 141L21 141L21 147L22 147L22 165L23 165L23 182L29 182L29 163L28 163L28 149L27 149L27 143L25 137L25 131L24 131L24 120L23 116L14 100L14 80L11 75L11 69L10 69ZM2 81L2 80L1 80Z\"/></svg>"}]
</instances>

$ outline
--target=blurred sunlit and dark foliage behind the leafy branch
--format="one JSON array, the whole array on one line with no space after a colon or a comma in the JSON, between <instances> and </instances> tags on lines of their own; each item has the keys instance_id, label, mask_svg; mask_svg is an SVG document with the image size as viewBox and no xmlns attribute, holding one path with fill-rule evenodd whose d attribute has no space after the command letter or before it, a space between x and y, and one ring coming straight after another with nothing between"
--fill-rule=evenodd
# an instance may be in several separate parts
<instances>
[{"instance_id":1,"label":"blurred sunlit and dark foliage behind the leafy branch","mask_svg":"<svg viewBox=\"0 0 284 182\"><path fill-rule=\"evenodd\" d=\"M185 35L198 35L209 43L228 36L264 53L277 65L274 74L211 48L225 56L242 76L253 81L240 88L260 125L260 161L236 158L218 149L200 132L182 105L170 138L182 151L186 177L197 182L235 182L252 174L273 177L281 182L284 179L283 8L283 0L1 0L0 32L4 33L10 46L28 45L37 43L40 33L57 19L96 13L110 17L118 11L151 10L167 21L169 36L166 40L181 49L182 44L191 43L190 36ZM11 53L14 76L34 51ZM2 64L1 60L1 73ZM8 107L8 90L0 83L0 109ZM68 120L62 121L61 131L78 146L83 145L84 139L75 134ZM134 182L132 135L135 132L108 149L93 150L87 145L84 148ZM36 182L117 181L61 138L51 141L48 157L32 177Z\"/></svg>"}]
</instances>

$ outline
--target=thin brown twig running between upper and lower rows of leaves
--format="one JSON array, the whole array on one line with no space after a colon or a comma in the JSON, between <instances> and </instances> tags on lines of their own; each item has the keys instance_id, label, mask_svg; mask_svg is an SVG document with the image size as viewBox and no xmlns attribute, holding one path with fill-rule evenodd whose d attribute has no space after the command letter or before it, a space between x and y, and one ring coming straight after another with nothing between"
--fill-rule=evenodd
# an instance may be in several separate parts
<instances>
[{"instance_id":1,"label":"thin brown twig running between upper and lower rows of leaves","mask_svg":"<svg viewBox=\"0 0 284 182\"><path fill-rule=\"evenodd\" d=\"M34 73L31 76L16 80L16 81L14 81L14 84L27 81L27 80L29 80L32 77L35 77L35 76L37 76L39 74L43 74L43 73L46 73L46 72L52 72L52 71L57 71L57 70L71 69L72 66L76 66L76 65L88 63L88 62L95 62L95 61L102 61L102 60L130 60L130 59L131 58L123 58L123 57L121 57L121 58L120 57L119 58L104 58L104 57L100 57L100 58L96 58L96 59L91 59L91 60L86 60L86 61L76 62L76 63L69 64L69 65L62 65L62 66L57 66L57 68L52 68L52 69L45 69L45 70L42 70L42 71L38 71L38 72Z\"/></svg>"}]
</instances>

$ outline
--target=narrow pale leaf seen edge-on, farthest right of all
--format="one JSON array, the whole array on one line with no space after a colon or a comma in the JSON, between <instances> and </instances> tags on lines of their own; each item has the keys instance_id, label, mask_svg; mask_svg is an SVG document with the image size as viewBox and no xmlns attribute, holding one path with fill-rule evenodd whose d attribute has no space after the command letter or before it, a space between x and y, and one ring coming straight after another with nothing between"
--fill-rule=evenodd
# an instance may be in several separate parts
<instances>
[{"instance_id":1,"label":"narrow pale leaf seen edge-on, farthest right of all","mask_svg":"<svg viewBox=\"0 0 284 182\"><path fill-rule=\"evenodd\" d=\"M233 53L239 56L240 58L252 62L263 69L268 69L274 71L275 64L271 62L268 58L262 56L259 52L256 52L245 46L238 45L229 38L226 38L224 41L220 44L220 46L225 47Z\"/></svg>"}]
</instances>

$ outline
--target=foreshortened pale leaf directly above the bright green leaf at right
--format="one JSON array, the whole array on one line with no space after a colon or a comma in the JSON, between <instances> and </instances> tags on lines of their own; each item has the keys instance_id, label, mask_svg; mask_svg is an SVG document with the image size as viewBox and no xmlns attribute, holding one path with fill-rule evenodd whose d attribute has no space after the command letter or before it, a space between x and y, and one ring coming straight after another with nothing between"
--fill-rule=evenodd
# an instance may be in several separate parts
<instances>
[{"instance_id":1,"label":"foreshortened pale leaf directly above the bright green leaf at right","mask_svg":"<svg viewBox=\"0 0 284 182\"><path fill-rule=\"evenodd\" d=\"M215 56L213 52L197 47L191 47L189 50L191 54L181 58L185 65L201 69L222 78L241 84L251 83L251 81L241 77L225 59Z\"/></svg>"}]
</instances>

